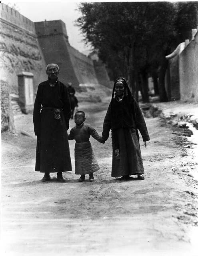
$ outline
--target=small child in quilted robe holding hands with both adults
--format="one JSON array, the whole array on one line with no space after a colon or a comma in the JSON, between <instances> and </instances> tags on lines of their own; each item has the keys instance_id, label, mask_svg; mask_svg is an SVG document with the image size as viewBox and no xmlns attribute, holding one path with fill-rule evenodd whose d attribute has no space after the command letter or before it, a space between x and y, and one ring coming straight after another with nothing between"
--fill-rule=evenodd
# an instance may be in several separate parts
<instances>
[{"instance_id":1,"label":"small child in quilted robe holding hands with both adults","mask_svg":"<svg viewBox=\"0 0 198 256\"><path fill-rule=\"evenodd\" d=\"M102 136L89 124L84 124L85 113L77 111L74 115L74 122L76 124L70 130L68 135L69 140L76 140L74 156L75 156L75 174L80 174L79 182L85 180L85 174L89 174L90 182L94 181L93 172L98 171L100 168L92 150L92 145L89 141L90 136L104 143Z\"/></svg>"}]
</instances>

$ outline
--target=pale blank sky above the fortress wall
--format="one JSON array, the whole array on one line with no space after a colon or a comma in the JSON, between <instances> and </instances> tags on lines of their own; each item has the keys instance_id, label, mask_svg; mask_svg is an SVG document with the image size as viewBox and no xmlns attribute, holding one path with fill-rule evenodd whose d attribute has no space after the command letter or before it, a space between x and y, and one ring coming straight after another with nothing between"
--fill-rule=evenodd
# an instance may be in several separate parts
<instances>
[{"instance_id":1,"label":"pale blank sky above the fortress wall","mask_svg":"<svg viewBox=\"0 0 198 256\"><path fill-rule=\"evenodd\" d=\"M91 49L91 46L88 47L82 42L84 37L80 32L80 28L74 25L75 20L80 17L80 12L76 10L80 2L67 2L64 0L34 0L34 2L31 0L2 0L2 2L10 7L15 4L16 10L33 22L62 20L66 24L70 45L85 54L88 54Z\"/></svg>"}]
</instances>

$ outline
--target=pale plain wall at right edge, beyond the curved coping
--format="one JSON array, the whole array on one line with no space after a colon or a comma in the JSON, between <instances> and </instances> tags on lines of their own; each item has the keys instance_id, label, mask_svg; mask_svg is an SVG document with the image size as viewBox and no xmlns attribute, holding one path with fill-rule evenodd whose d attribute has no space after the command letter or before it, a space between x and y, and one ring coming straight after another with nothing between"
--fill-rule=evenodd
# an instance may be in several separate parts
<instances>
[{"instance_id":1,"label":"pale plain wall at right edge, beyond the curved coping","mask_svg":"<svg viewBox=\"0 0 198 256\"><path fill-rule=\"evenodd\" d=\"M181 100L198 100L198 33L179 56Z\"/></svg>"}]
</instances>

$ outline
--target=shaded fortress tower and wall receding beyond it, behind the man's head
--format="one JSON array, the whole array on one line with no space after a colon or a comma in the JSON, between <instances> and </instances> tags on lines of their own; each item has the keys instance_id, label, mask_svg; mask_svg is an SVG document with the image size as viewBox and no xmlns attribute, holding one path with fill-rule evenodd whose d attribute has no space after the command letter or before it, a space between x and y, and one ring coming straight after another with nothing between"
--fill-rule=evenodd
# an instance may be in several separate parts
<instances>
[{"instance_id":1,"label":"shaded fortress tower and wall receding beyond it, behind the man's head","mask_svg":"<svg viewBox=\"0 0 198 256\"><path fill-rule=\"evenodd\" d=\"M35 22L35 28L46 63L59 65L63 83L72 82L76 88L79 84L98 83L92 60L70 46L62 20Z\"/></svg>"}]
</instances>

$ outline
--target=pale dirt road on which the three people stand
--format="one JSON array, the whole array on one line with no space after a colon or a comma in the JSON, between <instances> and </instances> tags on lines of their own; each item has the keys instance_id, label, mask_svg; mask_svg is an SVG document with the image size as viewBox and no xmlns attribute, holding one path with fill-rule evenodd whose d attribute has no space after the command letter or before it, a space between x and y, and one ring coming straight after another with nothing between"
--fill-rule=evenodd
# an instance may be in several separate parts
<instances>
[{"instance_id":1,"label":"pale dirt road on which the three people stand","mask_svg":"<svg viewBox=\"0 0 198 256\"><path fill-rule=\"evenodd\" d=\"M99 132L107 106L80 106ZM145 180L112 178L111 140L103 145L91 139L100 165L95 181L78 182L70 141L73 171L64 173L62 184L41 182L42 174L34 172L32 116L18 116L16 129L30 136L2 134L3 255L196 256L198 190L186 170L196 164L193 146L184 148L186 138L158 118L146 123L151 141L143 148L140 140Z\"/></svg>"}]
</instances>

